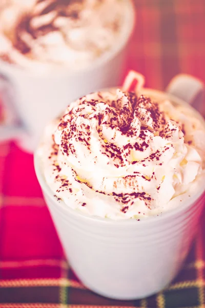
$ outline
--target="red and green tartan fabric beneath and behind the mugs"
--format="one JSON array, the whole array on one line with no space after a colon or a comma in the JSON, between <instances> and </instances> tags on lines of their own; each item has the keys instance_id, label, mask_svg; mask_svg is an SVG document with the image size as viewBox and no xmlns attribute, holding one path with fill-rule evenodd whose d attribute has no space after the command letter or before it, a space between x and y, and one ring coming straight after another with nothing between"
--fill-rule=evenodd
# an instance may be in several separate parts
<instances>
[{"instance_id":1,"label":"red and green tartan fabric beneath and behind the mugs","mask_svg":"<svg viewBox=\"0 0 205 308\"><path fill-rule=\"evenodd\" d=\"M179 72L205 82L204 0L135 0L135 7L127 70L141 72L156 89ZM98 296L64 258L33 157L13 142L0 144L0 308L205 308L204 233L202 217L185 266L159 294L135 301Z\"/></svg>"}]
</instances>

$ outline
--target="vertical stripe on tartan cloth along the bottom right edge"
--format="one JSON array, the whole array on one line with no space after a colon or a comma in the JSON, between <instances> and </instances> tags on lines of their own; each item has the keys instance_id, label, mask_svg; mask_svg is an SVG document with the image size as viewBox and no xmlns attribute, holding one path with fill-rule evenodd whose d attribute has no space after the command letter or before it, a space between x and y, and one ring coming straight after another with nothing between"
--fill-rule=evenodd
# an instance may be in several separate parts
<instances>
[{"instance_id":1,"label":"vertical stripe on tartan cloth along the bottom right edge","mask_svg":"<svg viewBox=\"0 0 205 308\"><path fill-rule=\"evenodd\" d=\"M203 234L202 234L201 227L199 229L199 232L198 232L198 235L197 235L197 238L196 238L195 253L196 253L196 260L200 264L200 262L203 258ZM203 268L197 267L196 269L197 269L199 303L200 303L200 306L202 307L205 304Z\"/></svg>"}]
</instances>

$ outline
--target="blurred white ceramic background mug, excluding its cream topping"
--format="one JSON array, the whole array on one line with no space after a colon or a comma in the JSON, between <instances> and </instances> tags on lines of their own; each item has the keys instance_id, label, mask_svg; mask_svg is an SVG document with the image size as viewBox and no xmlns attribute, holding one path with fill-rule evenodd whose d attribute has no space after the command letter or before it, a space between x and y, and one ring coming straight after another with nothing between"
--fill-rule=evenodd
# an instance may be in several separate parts
<instances>
[{"instance_id":1,"label":"blurred white ceramic background mug, excluding its cream topping","mask_svg":"<svg viewBox=\"0 0 205 308\"><path fill-rule=\"evenodd\" d=\"M62 69L60 73L36 76L0 61L0 92L14 119L0 126L0 141L17 139L24 149L33 151L46 123L70 102L102 87L119 84L135 22L132 0L126 4L127 19L121 42L85 69L76 72Z\"/></svg>"}]
</instances>

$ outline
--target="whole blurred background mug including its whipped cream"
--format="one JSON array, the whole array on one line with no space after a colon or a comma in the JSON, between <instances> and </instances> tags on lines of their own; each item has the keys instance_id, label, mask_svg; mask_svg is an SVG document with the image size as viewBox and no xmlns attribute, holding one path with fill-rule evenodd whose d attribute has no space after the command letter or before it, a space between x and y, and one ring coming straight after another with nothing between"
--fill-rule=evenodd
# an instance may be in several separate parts
<instances>
[{"instance_id":1,"label":"whole blurred background mug including its whipped cream","mask_svg":"<svg viewBox=\"0 0 205 308\"><path fill-rule=\"evenodd\" d=\"M135 10L132 0L11 0L0 11L0 90L15 119L0 140L33 152L70 102L120 83Z\"/></svg>"}]
</instances>

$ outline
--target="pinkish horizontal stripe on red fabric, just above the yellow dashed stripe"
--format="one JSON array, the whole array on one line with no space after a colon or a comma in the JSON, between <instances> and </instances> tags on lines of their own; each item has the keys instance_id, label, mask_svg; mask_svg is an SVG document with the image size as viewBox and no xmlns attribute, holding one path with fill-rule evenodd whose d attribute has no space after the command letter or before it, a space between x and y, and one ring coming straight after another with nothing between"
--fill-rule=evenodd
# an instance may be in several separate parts
<instances>
[{"instance_id":1,"label":"pinkish horizontal stripe on red fabric, just above the yellow dashed stripe","mask_svg":"<svg viewBox=\"0 0 205 308\"><path fill-rule=\"evenodd\" d=\"M37 260L24 260L24 261L0 261L0 268L14 268L14 267L30 267L30 266L59 266L68 268L66 260L58 259L37 259Z\"/></svg>"}]
</instances>

